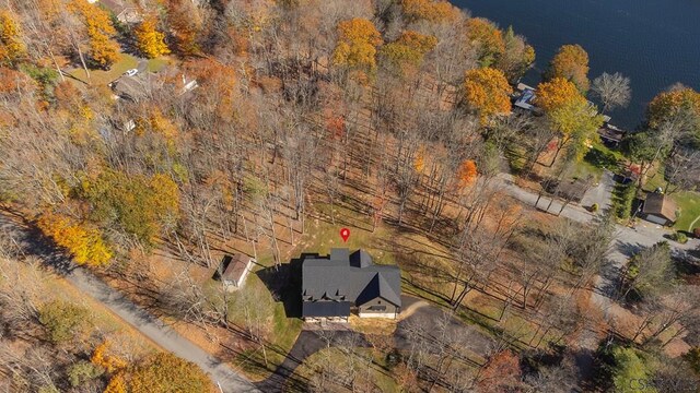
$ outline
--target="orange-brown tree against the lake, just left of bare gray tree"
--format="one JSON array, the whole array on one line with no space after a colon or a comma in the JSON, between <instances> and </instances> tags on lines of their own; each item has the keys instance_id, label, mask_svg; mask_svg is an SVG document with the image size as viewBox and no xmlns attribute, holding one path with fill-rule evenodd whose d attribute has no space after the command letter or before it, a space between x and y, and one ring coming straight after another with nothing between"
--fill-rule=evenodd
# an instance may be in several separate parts
<instances>
[{"instance_id":1,"label":"orange-brown tree against the lake, just left of bare gray tree","mask_svg":"<svg viewBox=\"0 0 700 393\"><path fill-rule=\"evenodd\" d=\"M563 78L571 81L585 94L591 87L588 81L588 53L580 45L564 45L549 63L545 73L547 80Z\"/></svg>"}]
</instances>

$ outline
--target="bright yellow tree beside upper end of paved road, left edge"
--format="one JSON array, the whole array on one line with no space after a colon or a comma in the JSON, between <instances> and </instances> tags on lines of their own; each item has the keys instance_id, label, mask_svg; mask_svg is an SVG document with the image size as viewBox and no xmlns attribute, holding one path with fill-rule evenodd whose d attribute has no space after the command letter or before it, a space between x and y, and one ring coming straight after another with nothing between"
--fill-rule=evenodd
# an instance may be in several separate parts
<instances>
[{"instance_id":1,"label":"bright yellow tree beside upper end of paved road, left edge","mask_svg":"<svg viewBox=\"0 0 700 393\"><path fill-rule=\"evenodd\" d=\"M68 216L49 212L43 214L37 224L45 235L66 248L78 264L100 266L113 257L97 229L75 223Z\"/></svg>"}]
</instances>

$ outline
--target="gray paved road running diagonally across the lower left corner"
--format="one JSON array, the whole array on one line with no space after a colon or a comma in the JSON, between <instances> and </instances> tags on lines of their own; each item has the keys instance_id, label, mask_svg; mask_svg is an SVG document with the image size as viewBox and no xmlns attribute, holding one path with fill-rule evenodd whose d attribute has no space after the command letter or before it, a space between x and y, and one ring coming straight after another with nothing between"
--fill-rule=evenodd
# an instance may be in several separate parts
<instances>
[{"instance_id":1,"label":"gray paved road running diagonally across the lower left corner","mask_svg":"<svg viewBox=\"0 0 700 393\"><path fill-rule=\"evenodd\" d=\"M3 213L0 212L0 228L11 230L21 237L27 252L58 266L57 270L63 273L63 277L82 294L103 303L163 349L199 366L214 383L219 383L224 393L259 392L247 379L136 306L119 291L107 286L86 270L66 262L66 258L49 246L36 243L36 234L28 234L27 229L16 223L14 219L16 217L10 217Z\"/></svg>"}]
</instances>

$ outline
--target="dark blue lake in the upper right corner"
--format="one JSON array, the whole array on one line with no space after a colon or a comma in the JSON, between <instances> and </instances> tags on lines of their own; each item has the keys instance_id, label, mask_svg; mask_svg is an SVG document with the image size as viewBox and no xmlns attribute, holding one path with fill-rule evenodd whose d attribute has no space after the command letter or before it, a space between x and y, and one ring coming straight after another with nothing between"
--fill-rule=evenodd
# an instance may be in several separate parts
<instances>
[{"instance_id":1,"label":"dark blue lake in the upper right corner","mask_svg":"<svg viewBox=\"0 0 700 393\"><path fill-rule=\"evenodd\" d=\"M557 49L579 44L591 58L590 78L621 72L631 79L632 102L610 114L633 129L646 104L674 83L700 90L700 0L453 0L472 16L512 25L535 47L535 85Z\"/></svg>"}]
</instances>

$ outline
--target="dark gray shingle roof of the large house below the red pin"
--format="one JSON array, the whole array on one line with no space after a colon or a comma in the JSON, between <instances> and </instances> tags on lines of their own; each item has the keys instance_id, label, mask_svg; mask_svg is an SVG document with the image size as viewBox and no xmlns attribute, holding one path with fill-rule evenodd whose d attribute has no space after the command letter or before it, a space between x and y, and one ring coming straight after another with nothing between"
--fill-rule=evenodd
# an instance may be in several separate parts
<instances>
[{"instance_id":1,"label":"dark gray shingle roof of the large house below the red pin","mask_svg":"<svg viewBox=\"0 0 700 393\"><path fill-rule=\"evenodd\" d=\"M302 265L304 305L311 301L350 301L361 306L382 297L400 307L400 293L401 274L398 266L376 265L370 254L362 250L350 254L348 249L332 249L330 255L305 259Z\"/></svg>"}]
</instances>

